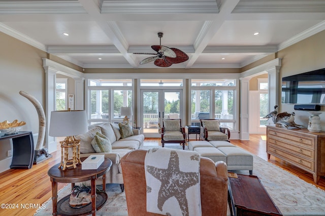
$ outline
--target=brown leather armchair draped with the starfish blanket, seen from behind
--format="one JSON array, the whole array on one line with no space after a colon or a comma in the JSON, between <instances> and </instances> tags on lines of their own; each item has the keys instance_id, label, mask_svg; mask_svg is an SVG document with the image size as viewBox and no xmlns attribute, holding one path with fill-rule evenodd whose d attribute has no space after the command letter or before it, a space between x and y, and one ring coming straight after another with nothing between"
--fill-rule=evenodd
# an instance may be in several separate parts
<instances>
[{"instance_id":1,"label":"brown leather armchair draped with the starfish blanket, seen from behind","mask_svg":"<svg viewBox=\"0 0 325 216\"><path fill-rule=\"evenodd\" d=\"M123 181L129 216L157 216L146 210L146 179L144 160L147 150L137 149L121 159ZM227 167L223 161L200 160L202 216L225 216L228 205Z\"/></svg>"}]
</instances>

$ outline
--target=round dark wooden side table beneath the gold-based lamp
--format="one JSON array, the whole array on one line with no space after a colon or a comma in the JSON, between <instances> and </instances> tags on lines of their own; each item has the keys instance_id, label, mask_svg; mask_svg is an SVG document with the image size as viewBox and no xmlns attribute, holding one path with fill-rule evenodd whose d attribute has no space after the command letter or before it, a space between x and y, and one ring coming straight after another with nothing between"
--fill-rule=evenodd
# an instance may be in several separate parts
<instances>
[{"instance_id":1,"label":"round dark wooden side table beneath the gold-based lamp","mask_svg":"<svg viewBox=\"0 0 325 216\"><path fill-rule=\"evenodd\" d=\"M85 160L86 157L80 158L81 161ZM96 215L96 209L101 208L107 200L106 196L102 197L103 203L101 206L96 206L96 179L100 176L103 176L103 191L106 190L106 171L110 169L112 165L112 161L108 158L105 158L104 162L98 167L98 169L81 169L81 164L77 165L77 168L67 168L66 170L62 170L58 168L58 164L52 166L48 175L51 178L52 182L52 206L53 206L53 214L57 215L57 183L71 183L71 187L75 186L77 182L91 181L91 212L79 212L73 215L87 215L92 213L92 215ZM80 211L80 210L79 210ZM87 211L87 210L86 210ZM67 215L71 215L71 213L67 212ZM64 214L63 214L64 215Z\"/></svg>"}]
</instances>

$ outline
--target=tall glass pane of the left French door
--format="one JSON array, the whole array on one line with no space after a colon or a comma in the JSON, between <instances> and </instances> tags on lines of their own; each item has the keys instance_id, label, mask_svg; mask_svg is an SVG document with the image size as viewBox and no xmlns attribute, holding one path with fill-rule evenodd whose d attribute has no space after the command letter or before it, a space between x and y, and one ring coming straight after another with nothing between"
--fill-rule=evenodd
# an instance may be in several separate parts
<instances>
[{"instance_id":1,"label":"tall glass pane of the left French door","mask_svg":"<svg viewBox=\"0 0 325 216\"><path fill-rule=\"evenodd\" d=\"M158 92L143 93L143 132L158 133L159 122Z\"/></svg>"}]
</instances>

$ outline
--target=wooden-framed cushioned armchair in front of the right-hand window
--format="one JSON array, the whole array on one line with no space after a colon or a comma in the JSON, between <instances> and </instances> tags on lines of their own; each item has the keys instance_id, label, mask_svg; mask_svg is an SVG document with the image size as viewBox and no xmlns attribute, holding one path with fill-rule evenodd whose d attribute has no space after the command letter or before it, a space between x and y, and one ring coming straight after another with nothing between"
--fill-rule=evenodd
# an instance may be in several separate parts
<instances>
[{"instance_id":1,"label":"wooden-framed cushioned armchair in front of the right-hand window","mask_svg":"<svg viewBox=\"0 0 325 216\"><path fill-rule=\"evenodd\" d=\"M200 119L201 137L206 141L229 141L230 130L227 127L220 127L217 119Z\"/></svg>"}]
</instances>

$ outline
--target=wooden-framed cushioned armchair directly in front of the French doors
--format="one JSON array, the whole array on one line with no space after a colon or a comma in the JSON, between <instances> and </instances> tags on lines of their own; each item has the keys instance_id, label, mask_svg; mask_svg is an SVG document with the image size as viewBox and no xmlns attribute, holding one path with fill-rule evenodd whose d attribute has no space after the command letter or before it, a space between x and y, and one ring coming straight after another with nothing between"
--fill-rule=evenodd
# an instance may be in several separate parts
<instances>
[{"instance_id":1,"label":"wooden-framed cushioned armchair directly in front of the French doors","mask_svg":"<svg viewBox=\"0 0 325 216\"><path fill-rule=\"evenodd\" d=\"M165 143L179 143L185 149L185 128L182 127L181 119L163 119L161 127L161 146Z\"/></svg>"}]
</instances>

